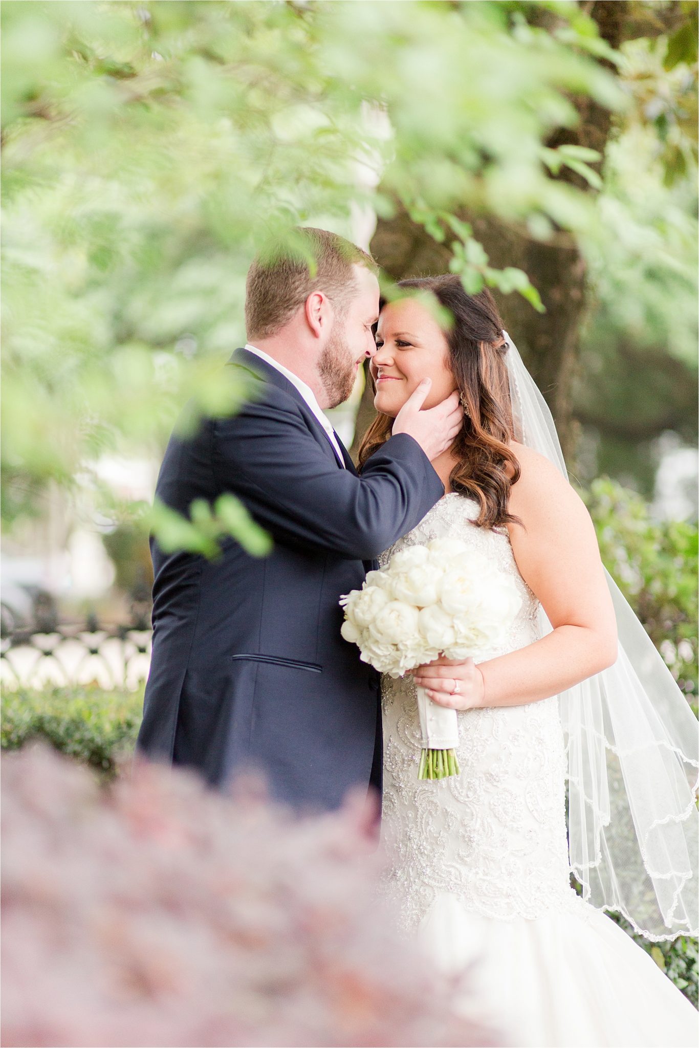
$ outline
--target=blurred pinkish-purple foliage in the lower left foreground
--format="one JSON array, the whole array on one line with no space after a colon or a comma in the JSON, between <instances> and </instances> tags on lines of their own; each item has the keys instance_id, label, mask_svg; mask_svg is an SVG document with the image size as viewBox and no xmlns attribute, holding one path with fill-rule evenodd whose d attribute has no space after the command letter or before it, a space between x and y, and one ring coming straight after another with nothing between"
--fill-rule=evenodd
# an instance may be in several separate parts
<instances>
[{"instance_id":1,"label":"blurred pinkish-purple foliage in the lower left foreground","mask_svg":"<svg viewBox=\"0 0 699 1048\"><path fill-rule=\"evenodd\" d=\"M3 1045L495 1044L379 904L359 798L301 820L147 764L100 787L41 743L2 789Z\"/></svg>"}]
</instances>

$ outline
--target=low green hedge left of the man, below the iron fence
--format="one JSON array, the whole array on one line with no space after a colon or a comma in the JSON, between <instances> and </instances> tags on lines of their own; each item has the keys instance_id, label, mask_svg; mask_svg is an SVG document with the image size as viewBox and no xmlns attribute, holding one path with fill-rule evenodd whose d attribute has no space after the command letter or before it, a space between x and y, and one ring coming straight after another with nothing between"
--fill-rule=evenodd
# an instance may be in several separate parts
<instances>
[{"instance_id":1,"label":"low green hedge left of the man, below the iron fence","mask_svg":"<svg viewBox=\"0 0 699 1048\"><path fill-rule=\"evenodd\" d=\"M103 777L112 778L117 758L133 752L143 707L143 689L105 692L87 685L6 691L1 745L3 749L19 749L29 739L40 738Z\"/></svg>"}]
</instances>

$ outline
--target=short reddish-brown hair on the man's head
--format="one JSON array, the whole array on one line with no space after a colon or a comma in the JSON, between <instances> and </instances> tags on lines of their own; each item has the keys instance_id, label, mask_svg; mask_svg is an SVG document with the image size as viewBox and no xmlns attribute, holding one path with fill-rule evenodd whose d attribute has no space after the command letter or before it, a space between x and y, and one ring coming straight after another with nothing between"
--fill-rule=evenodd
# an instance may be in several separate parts
<instances>
[{"instance_id":1,"label":"short reddish-brown hair on the man's head","mask_svg":"<svg viewBox=\"0 0 699 1048\"><path fill-rule=\"evenodd\" d=\"M356 291L353 265L364 265L371 272L378 270L371 255L356 244L312 226L294 230L283 247L261 253L247 274L248 340L277 334L313 291L324 291L338 315L346 315Z\"/></svg>"}]
</instances>

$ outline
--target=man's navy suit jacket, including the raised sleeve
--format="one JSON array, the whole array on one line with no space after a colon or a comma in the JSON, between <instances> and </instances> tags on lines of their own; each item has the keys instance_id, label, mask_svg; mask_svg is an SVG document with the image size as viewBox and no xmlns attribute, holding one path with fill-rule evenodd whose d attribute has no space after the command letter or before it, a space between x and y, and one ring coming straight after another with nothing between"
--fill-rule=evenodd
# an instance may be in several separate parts
<instances>
[{"instance_id":1,"label":"man's navy suit jacket, including the raised sleeve","mask_svg":"<svg viewBox=\"0 0 699 1048\"><path fill-rule=\"evenodd\" d=\"M274 539L248 555L232 538L209 561L151 536L153 653L137 751L224 787L245 767L294 809L337 807L352 786L381 789L378 674L340 633L340 596L425 516L443 486L419 444L391 437L357 476L305 400L247 350L252 399L173 436L156 496L235 494ZM253 375L249 374L253 372ZM342 446L342 445L341 445Z\"/></svg>"}]
</instances>

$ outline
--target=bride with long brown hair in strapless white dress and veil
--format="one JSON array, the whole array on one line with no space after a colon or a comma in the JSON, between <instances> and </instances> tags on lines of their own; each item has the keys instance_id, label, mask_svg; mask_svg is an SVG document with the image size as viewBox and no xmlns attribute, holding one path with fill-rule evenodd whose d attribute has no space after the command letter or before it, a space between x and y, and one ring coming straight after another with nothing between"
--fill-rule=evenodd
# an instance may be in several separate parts
<instances>
[{"instance_id":1,"label":"bride with long brown hair in strapless white dress and veil","mask_svg":"<svg viewBox=\"0 0 699 1048\"><path fill-rule=\"evenodd\" d=\"M465 419L433 463L444 497L381 566L458 537L512 576L522 608L478 664L384 678L385 888L440 969L469 969L510 1043L695 1045L691 1003L604 910L656 941L696 934L696 721L602 565L490 293L453 276L399 287L378 321L379 415L359 461L424 377L425 406L458 389ZM457 777L418 780L416 683L458 711Z\"/></svg>"}]
</instances>

